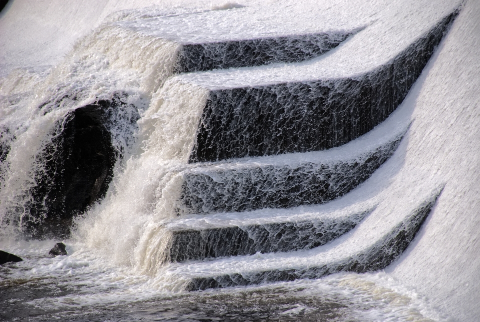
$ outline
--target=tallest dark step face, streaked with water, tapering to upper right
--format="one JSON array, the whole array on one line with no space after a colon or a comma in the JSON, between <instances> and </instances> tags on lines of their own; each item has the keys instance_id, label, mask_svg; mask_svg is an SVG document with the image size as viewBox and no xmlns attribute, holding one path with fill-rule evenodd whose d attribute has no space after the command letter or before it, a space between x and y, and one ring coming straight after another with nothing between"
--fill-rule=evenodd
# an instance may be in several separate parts
<instances>
[{"instance_id":1,"label":"tallest dark step face, streaked with water, tapering to upper right","mask_svg":"<svg viewBox=\"0 0 480 322\"><path fill-rule=\"evenodd\" d=\"M189 162L324 150L365 134L403 101L457 15L355 78L211 90Z\"/></svg>"}]
</instances>

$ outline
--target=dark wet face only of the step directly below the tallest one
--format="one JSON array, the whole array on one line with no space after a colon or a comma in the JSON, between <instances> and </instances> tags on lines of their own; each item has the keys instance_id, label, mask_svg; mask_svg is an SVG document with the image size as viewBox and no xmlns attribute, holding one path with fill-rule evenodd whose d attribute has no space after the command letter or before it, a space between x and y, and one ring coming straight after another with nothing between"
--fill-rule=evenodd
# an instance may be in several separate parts
<instances>
[{"instance_id":1,"label":"dark wet face only of the step directly below the tallest one","mask_svg":"<svg viewBox=\"0 0 480 322\"><path fill-rule=\"evenodd\" d=\"M185 171L180 211L200 214L325 203L368 179L395 152L401 138L360 151L350 160Z\"/></svg>"}]
</instances>

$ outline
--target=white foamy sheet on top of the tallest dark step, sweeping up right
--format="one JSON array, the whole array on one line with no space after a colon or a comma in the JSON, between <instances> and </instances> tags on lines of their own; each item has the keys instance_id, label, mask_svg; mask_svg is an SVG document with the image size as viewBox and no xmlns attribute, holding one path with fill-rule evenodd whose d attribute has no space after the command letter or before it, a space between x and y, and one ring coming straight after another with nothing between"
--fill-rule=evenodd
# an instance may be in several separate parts
<instances>
[{"instance_id":1,"label":"white foamy sheet on top of the tallest dark step, sweeping up right","mask_svg":"<svg viewBox=\"0 0 480 322\"><path fill-rule=\"evenodd\" d=\"M371 23L367 28L336 49L306 62L198 72L176 78L180 82L193 83L210 90L355 78L392 60L451 13L460 2L448 0L430 7L428 3L413 1L384 5L379 12L368 15ZM380 6L378 4L375 7ZM358 10L365 12L362 6Z\"/></svg>"}]
</instances>

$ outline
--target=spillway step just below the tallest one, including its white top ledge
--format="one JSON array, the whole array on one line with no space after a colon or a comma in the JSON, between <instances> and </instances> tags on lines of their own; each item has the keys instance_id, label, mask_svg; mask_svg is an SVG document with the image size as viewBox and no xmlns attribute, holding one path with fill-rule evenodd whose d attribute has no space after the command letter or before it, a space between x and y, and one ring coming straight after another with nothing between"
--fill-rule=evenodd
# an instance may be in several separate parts
<instances>
[{"instance_id":1,"label":"spillway step just below the tallest one, including its white top ledge","mask_svg":"<svg viewBox=\"0 0 480 322\"><path fill-rule=\"evenodd\" d=\"M392 115L344 146L182 171L178 213L248 211L328 202L365 181L394 153L408 124Z\"/></svg>"}]
</instances>

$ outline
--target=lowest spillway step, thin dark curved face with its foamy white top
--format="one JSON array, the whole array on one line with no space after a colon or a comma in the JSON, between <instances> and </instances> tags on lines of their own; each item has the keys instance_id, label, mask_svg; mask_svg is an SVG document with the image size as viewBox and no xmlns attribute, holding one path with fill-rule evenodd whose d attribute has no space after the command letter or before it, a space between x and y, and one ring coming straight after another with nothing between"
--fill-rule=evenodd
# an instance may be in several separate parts
<instances>
[{"instance_id":1,"label":"lowest spillway step, thin dark curved face with its foamy white top","mask_svg":"<svg viewBox=\"0 0 480 322\"><path fill-rule=\"evenodd\" d=\"M394 224L387 230L376 228L376 231L372 232L371 229L360 227L355 228L349 236L344 235L331 244L308 251L192 263L188 265L186 276L183 275L184 266L172 267L167 272L184 279L185 289L199 290L319 278L340 271L361 273L383 269L407 248L425 221L438 194L439 191L436 191L417 204L403 218L393 221ZM392 219L387 221L392 222ZM361 225L367 225L367 222Z\"/></svg>"}]
</instances>

